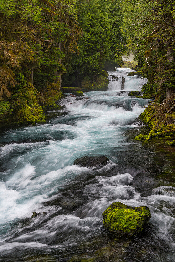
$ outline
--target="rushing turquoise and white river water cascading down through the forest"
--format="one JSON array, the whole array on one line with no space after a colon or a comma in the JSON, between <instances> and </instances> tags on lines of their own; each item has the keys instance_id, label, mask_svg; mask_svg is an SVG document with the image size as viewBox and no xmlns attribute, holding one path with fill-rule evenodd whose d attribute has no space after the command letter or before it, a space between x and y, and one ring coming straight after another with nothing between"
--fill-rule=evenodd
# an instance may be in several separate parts
<instances>
[{"instance_id":1,"label":"rushing turquoise and white river water cascading down through the forest","mask_svg":"<svg viewBox=\"0 0 175 262\"><path fill-rule=\"evenodd\" d=\"M132 71L109 72L119 80L110 77L107 91L68 94L49 124L1 133L0 261L175 260L175 187L160 184L155 153L127 135L141 128L148 102L127 96L146 82L127 76ZM110 162L73 164L98 155ZM120 239L103 228L102 212L114 201L149 206L140 236ZM41 215L31 219L34 211Z\"/></svg>"}]
</instances>

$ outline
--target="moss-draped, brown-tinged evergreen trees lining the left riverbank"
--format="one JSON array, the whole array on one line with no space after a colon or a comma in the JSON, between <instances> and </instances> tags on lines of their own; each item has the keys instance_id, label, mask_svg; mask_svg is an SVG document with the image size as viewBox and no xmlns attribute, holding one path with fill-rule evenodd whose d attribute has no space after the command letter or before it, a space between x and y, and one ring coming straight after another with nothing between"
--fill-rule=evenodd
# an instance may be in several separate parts
<instances>
[{"instance_id":1,"label":"moss-draped, brown-tinged evergreen trees lining the left riverbank","mask_svg":"<svg viewBox=\"0 0 175 262\"><path fill-rule=\"evenodd\" d=\"M62 58L79 52L76 19L74 1L1 1L0 101L9 110L1 110L0 125L45 120L39 103L53 107L66 72Z\"/></svg>"}]
</instances>

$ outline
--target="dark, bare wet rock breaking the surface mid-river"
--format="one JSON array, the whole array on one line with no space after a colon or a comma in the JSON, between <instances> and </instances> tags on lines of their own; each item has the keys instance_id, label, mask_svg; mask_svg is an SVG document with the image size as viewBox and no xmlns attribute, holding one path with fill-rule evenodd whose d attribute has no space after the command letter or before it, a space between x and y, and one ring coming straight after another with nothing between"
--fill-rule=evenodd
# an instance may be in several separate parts
<instances>
[{"instance_id":1,"label":"dark, bare wet rock breaking the surface mid-river","mask_svg":"<svg viewBox=\"0 0 175 262\"><path fill-rule=\"evenodd\" d=\"M109 161L108 157L105 156L83 156L77 158L74 163L82 167L95 167L97 165L105 166Z\"/></svg>"}]
</instances>

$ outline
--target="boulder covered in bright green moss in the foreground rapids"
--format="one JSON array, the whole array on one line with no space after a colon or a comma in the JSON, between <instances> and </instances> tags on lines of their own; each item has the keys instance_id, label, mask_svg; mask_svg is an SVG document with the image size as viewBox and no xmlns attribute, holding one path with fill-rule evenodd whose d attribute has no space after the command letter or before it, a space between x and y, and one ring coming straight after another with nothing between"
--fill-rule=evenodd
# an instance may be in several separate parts
<instances>
[{"instance_id":1,"label":"boulder covered in bright green moss in the foreground rapids","mask_svg":"<svg viewBox=\"0 0 175 262\"><path fill-rule=\"evenodd\" d=\"M147 206L127 206L120 202L112 203L102 214L103 225L110 233L135 236L148 224L151 218Z\"/></svg>"}]
</instances>

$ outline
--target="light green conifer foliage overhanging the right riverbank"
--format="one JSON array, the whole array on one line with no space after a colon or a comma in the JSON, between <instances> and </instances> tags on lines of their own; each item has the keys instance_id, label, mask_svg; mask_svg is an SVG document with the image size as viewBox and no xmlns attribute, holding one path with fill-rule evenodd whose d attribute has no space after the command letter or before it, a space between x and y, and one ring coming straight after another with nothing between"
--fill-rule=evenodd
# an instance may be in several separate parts
<instances>
[{"instance_id":1,"label":"light green conifer foliage overhanging the right riverbank","mask_svg":"<svg viewBox=\"0 0 175 262\"><path fill-rule=\"evenodd\" d=\"M174 0L125 0L123 5L127 51L149 79L142 90L162 100L167 89L175 90L174 5Z\"/></svg>"}]
</instances>

